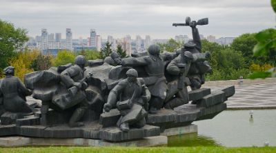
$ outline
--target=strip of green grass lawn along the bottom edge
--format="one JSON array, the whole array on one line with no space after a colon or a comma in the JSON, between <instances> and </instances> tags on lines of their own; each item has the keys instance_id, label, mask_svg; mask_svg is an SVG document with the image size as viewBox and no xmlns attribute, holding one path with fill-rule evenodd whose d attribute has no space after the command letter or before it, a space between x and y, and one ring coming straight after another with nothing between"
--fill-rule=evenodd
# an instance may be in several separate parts
<instances>
[{"instance_id":1,"label":"strip of green grass lawn along the bottom edge","mask_svg":"<svg viewBox=\"0 0 276 153\"><path fill-rule=\"evenodd\" d=\"M0 152L276 152L276 147L1 147Z\"/></svg>"}]
</instances>

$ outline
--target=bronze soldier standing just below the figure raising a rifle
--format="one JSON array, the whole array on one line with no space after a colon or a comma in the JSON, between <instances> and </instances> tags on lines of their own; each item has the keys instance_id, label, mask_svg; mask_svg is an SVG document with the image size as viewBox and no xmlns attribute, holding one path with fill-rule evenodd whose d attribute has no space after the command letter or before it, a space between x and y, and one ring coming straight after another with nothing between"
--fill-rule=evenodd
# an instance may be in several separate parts
<instances>
[{"instance_id":1,"label":"bronze soldier standing just below the figure raising a rifle","mask_svg":"<svg viewBox=\"0 0 276 153\"><path fill-rule=\"evenodd\" d=\"M175 76L175 79L168 83L168 94L164 105L164 108L167 109L173 109L179 105L188 103L189 94L187 86L190 85L190 81L186 76L190 70L190 65L195 62L204 61L210 57L209 52L192 54L189 51L185 51L184 48L182 48L178 57L170 61L166 68L167 72L172 75L172 78Z\"/></svg>"}]
</instances>

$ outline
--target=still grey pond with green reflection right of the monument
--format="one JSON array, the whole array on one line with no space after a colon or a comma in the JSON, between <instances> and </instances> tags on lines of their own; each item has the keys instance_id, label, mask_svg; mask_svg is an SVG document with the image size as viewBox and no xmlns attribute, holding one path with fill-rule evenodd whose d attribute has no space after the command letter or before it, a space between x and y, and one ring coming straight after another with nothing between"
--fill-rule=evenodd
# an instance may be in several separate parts
<instances>
[{"instance_id":1,"label":"still grey pond with green reflection right of the monument","mask_svg":"<svg viewBox=\"0 0 276 153\"><path fill-rule=\"evenodd\" d=\"M214 119L196 121L198 134L169 136L168 146L276 146L276 110L227 110Z\"/></svg>"}]
</instances>

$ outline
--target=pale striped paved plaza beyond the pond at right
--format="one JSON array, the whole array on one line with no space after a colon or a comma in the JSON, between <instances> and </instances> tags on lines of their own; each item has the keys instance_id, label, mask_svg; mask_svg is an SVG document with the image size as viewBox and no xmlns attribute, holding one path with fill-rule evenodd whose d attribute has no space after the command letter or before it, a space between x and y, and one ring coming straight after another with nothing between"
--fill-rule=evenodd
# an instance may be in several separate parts
<instances>
[{"instance_id":1,"label":"pale striped paved plaza beyond the pond at right","mask_svg":"<svg viewBox=\"0 0 276 153\"><path fill-rule=\"evenodd\" d=\"M227 108L276 108L276 83L235 85L235 90L234 96L226 101Z\"/></svg>"}]
</instances>

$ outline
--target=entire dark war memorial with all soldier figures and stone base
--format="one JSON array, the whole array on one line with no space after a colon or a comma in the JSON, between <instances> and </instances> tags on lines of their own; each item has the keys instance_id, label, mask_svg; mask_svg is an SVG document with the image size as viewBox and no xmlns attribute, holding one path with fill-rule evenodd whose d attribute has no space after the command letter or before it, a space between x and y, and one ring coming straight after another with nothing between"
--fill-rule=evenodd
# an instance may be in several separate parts
<instances>
[{"instance_id":1,"label":"entire dark war memorial with all soldier figures and stone base","mask_svg":"<svg viewBox=\"0 0 276 153\"><path fill-rule=\"evenodd\" d=\"M97 60L79 55L74 64L26 74L24 83L12 66L5 68L0 136L28 139L13 145L162 145L149 141L213 119L226 110L235 87L201 88L212 71L207 61L212 55L201 52L197 26L207 24L208 18L189 17L174 23L189 26L193 34L175 52L150 45L147 54L125 59L117 52Z\"/></svg>"}]
</instances>

